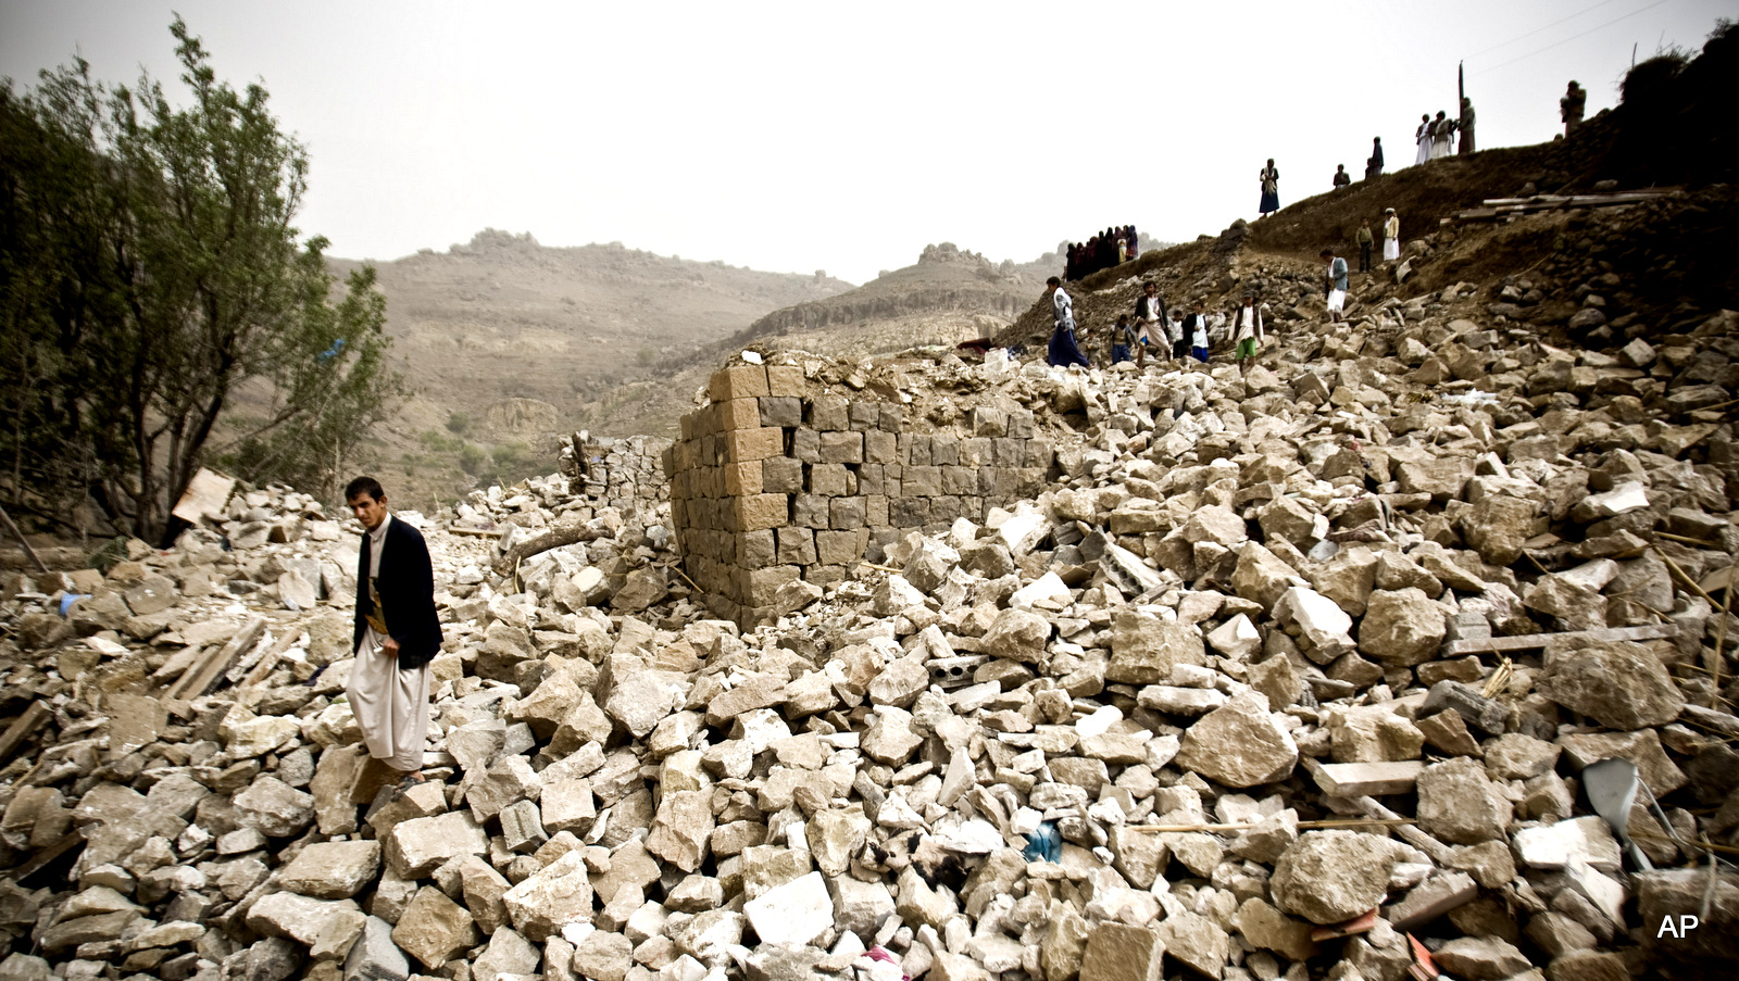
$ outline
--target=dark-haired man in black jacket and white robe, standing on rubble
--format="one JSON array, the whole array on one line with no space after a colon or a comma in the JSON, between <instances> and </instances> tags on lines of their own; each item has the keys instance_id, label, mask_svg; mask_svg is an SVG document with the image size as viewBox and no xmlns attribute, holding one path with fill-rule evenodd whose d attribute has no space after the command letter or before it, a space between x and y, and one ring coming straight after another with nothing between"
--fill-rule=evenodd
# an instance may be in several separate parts
<instances>
[{"instance_id":1,"label":"dark-haired man in black jacket and white robe, standing on rubble","mask_svg":"<svg viewBox=\"0 0 1739 981\"><path fill-rule=\"evenodd\" d=\"M435 564L423 532L386 510L379 480L351 480L344 503L363 527L356 560L356 659L344 694L369 757L407 788L423 781L430 661L442 645Z\"/></svg>"}]
</instances>

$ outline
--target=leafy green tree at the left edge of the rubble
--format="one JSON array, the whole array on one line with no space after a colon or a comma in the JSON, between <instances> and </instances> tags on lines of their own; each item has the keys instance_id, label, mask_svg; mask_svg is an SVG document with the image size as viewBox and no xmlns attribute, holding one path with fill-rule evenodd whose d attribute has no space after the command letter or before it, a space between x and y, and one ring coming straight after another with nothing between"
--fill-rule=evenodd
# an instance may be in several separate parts
<instances>
[{"instance_id":1,"label":"leafy green tree at the left edge of the rubble","mask_svg":"<svg viewBox=\"0 0 1739 981\"><path fill-rule=\"evenodd\" d=\"M83 61L0 85L9 494L50 513L89 494L146 539L217 450L330 490L396 381L374 270L339 292L325 238L299 244L306 148L263 85L237 92L179 17L170 33L184 106ZM264 409L231 419L243 391Z\"/></svg>"}]
</instances>

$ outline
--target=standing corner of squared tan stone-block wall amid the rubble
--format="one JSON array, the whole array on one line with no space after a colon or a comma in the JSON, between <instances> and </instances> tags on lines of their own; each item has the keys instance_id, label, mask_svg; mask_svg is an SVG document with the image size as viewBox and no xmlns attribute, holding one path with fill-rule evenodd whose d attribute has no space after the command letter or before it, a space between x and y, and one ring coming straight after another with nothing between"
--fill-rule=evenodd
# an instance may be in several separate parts
<instances>
[{"instance_id":1,"label":"standing corner of squared tan stone-block wall amid the rubble","mask_svg":"<svg viewBox=\"0 0 1739 981\"><path fill-rule=\"evenodd\" d=\"M1029 409L913 417L897 398L833 391L784 360L713 374L710 402L666 452L683 571L718 616L762 623L790 583L840 583L871 543L981 522L1050 478L1056 445Z\"/></svg>"}]
</instances>

